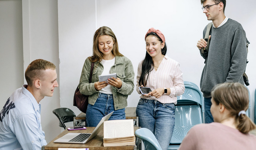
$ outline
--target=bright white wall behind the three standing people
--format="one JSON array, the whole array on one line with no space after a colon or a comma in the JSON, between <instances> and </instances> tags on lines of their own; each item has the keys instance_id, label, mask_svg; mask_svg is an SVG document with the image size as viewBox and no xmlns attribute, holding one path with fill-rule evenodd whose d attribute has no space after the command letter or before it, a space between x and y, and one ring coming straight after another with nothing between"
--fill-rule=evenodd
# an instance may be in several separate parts
<instances>
[{"instance_id":1,"label":"bright white wall behind the three standing people","mask_svg":"<svg viewBox=\"0 0 256 150\"><path fill-rule=\"evenodd\" d=\"M256 38L253 25L256 23L254 16L256 12L254 4L256 2L253 0L246 2L248 4L246 8L239 9L241 1L233 0L232 3L228 1L225 14L243 25L248 40L252 42L249 46L249 64L246 73L250 81L248 88L251 92L251 104L254 106L256 88L254 66L256 61L253 56L256 56L254 51L256 46L253 43L255 43ZM63 6L64 3L66 3L66 7ZM60 7L60 4L63 5ZM74 1L63 2L61 0L58 1L58 5L59 39L62 39L59 43L60 60L62 64L65 63L64 66L60 66L60 69L65 68L64 70L61 69L60 82L69 85L69 87L64 87L67 90L61 90L61 104L75 110L76 114L80 111L72 106L74 89L79 82L84 60L92 55L93 33L101 26L108 26L114 31L120 52L132 61L135 84L138 63L146 53L144 36L150 27L154 27L165 34L168 46L167 55L180 63L184 80L194 82L199 86L204 59L200 56L196 43L202 38L202 31L209 22L202 12L200 1L184 0L181 3L180 1L169 0L91 0L75 1L74 3ZM88 7L91 9L87 12ZM96 14L92 10L94 7ZM250 13L247 10L250 10ZM84 13L86 13L86 17L83 17ZM97 23L94 30L94 20L86 20L88 16L93 15L96 15L95 22ZM65 20L60 18L65 18ZM88 21L90 22L89 25ZM77 24L80 27L79 32L77 28L74 28L73 33L70 33L71 27L78 26ZM64 30L63 26L68 26L68 28ZM75 42L73 42L74 38L76 39ZM128 106L137 106L139 94L136 90L128 96L127 100ZM254 112L254 107L252 107L252 112ZM252 119L254 120L254 115Z\"/></svg>"}]
</instances>

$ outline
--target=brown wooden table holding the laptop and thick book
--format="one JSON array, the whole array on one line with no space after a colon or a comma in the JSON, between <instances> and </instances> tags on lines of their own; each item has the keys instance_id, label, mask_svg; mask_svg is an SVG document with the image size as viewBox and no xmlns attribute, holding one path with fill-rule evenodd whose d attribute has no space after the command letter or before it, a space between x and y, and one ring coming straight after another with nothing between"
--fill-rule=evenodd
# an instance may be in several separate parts
<instances>
[{"instance_id":1,"label":"brown wooden table holding the laptop and thick book","mask_svg":"<svg viewBox=\"0 0 256 150\"><path fill-rule=\"evenodd\" d=\"M46 146L42 147L42 150L58 150L58 148L89 148L89 150L141 150L141 140L136 138L137 146L115 146L115 147L104 147L103 146L103 129L100 133L95 136L93 139L88 141L86 144L68 144L68 143L53 143L53 141L58 138L64 136L67 133L92 133L95 127L86 127L86 130L64 130L60 135L58 135L55 139L53 139ZM135 131L139 129L139 127L134 127Z\"/></svg>"}]
</instances>

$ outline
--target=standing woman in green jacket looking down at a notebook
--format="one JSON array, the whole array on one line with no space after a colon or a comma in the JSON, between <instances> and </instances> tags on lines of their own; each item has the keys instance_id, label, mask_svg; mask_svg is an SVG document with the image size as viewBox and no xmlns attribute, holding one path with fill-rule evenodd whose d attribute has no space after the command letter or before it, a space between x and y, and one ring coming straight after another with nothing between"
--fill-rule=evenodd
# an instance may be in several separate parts
<instances>
[{"instance_id":1,"label":"standing woman in green jacket looking down at a notebook","mask_svg":"<svg viewBox=\"0 0 256 150\"><path fill-rule=\"evenodd\" d=\"M94 63L89 83L91 63ZM117 79L99 82L99 75L117 73ZM88 98L86 126L96 127L102 117L114 111L109 120L125 119L127 97L134 88L134 71L131 61L118 50L117 38L107 26L100 27L93 36L93 56L83 66L78 88Z\"/></svg>"}]
</instances>

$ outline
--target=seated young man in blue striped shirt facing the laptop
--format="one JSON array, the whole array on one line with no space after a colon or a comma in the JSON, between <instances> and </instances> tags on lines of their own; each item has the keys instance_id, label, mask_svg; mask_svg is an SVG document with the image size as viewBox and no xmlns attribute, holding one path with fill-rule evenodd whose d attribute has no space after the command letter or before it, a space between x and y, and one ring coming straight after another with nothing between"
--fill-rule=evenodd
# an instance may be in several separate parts
<instances>
[{"instance_id":1,"label":"seated young man in blue striped shirt facing the laptop","mask_svg":"<svg viewBox=\"0 0 256 150\"><path fill-rule=\"evenodd\" d=\"M15 90L0 113L1 150L41 150L47 145L41 126L41 104L58 87L56 66L43 59L31 62L25 78L28 85Z\"/></svg>"}]
</instances>

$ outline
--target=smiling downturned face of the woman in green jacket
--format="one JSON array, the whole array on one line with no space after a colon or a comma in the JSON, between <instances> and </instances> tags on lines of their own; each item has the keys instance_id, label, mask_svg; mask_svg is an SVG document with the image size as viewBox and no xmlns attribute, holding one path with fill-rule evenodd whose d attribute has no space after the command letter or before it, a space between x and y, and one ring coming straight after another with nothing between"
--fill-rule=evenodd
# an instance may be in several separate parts
<instances>
[{"instance_id":1,"label":"smiling downturned face of the woman in green jacket","mask_svg":"<svg viewBox=\"0 0 256 150\"><path fill-rule=\"evenodd\" d=\"M103 53L105 60L113 59L115 56L112 53L114 41L109 35L101 35L98 39L98 48Z\"/></svg>"}]
</instances>

